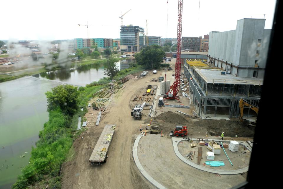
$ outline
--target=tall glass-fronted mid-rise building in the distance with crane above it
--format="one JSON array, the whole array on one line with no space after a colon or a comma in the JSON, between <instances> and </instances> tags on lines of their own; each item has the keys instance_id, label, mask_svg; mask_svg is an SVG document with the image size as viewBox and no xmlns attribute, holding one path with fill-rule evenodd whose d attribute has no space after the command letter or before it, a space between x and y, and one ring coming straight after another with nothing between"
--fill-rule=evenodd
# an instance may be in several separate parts
<instances>
[{"instance_id":1,"label":"tall glass-fronted mid-rise building in the distance with crane above it","mask_svg":"<svg viewBox=\"0 0 283 189\"><path fill-rule=\"evenodd\" d=\"M133 25L121 26L120 49L122 52L139 52L144 45L144 28Z\"/></svg>"}]
</instances>

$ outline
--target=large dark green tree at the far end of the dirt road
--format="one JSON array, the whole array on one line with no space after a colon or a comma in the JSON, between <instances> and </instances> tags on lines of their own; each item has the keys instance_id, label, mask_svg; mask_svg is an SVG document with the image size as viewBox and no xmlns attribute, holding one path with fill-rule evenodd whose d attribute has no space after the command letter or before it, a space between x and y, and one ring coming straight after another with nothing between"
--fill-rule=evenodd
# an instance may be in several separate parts
<instances>
[{"instance_id":1,"label":"large dark green tree at the far end of the dirt road","mask_svg":"<svg viewBox=\"0 0 283 189\"><path fill-rule=\"evenodd\" d=\"M139 65L147 68L157 69L162 62L165 52L158 45L150 45L135 54L135 59Z\"/></svg>"}]
</instances>

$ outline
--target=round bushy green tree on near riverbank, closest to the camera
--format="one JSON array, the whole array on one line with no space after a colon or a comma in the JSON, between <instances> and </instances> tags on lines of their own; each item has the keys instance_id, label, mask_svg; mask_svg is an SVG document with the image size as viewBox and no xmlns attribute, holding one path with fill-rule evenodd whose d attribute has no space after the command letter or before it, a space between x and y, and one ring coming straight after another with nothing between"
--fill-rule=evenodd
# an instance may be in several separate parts
<instances>
[{"instance_id":1,"label":"round bushy green tree on near riverbank, closest to the camera","mask_svg":"<svg viewBox=\"0 0 283 189\"><path fill-rule=\"evenodd\" d=\"M45 93L47 97L47 110L49 112L60 108L63 113L73 115L78 109L77 87L72 85L59 85L51 91Z\"/></svg>"}]
</instances>

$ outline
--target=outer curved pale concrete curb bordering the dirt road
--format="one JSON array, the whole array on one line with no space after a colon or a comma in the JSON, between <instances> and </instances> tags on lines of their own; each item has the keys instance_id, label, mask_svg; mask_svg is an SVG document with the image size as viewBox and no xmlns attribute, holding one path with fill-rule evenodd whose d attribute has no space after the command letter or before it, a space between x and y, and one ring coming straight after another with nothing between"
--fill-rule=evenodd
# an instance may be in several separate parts
<instances>
[{"instance_id":1,"label":"outer curved pale concrete curb bordering the dirt road","mask_svg":"<svg viewBox=\"0 0 283 189\"><path fill-rule=\"evenodd\" d=\"M159 184L156 180L154 180L142 167L141 163L139 162L139 158L138 158L138 144L139 144L139 140L141 139L141 137L143 136L144 133L141 133L138 137L136 137L135 143L134 143L134 148L133 148L133 156L134 156L134 160L136 163L136 167L138 167L139 171L141 172L142 175L144 175L144 177L150 182L152 183L156 188L159 189L166 189L164 186L162 186L161 184Z\"/></svg>"}]
</instances>

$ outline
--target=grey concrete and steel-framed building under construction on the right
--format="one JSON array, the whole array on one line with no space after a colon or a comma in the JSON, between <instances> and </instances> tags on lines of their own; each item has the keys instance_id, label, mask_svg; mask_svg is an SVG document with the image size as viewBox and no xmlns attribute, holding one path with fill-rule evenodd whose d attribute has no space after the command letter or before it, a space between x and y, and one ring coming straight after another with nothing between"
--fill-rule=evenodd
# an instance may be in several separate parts
<instances>
[{"instance_id":1,"label":"grey concrete and steel-framed building under construction on the right","mask_svg":"<svg viewBox=\"0 0 283 189\"><path fill-rule=\"evenodd\" d=\"M209 33L207 62L184 61L189 92L197 114L239 116L242 98L259 107L271 30L265 19L241 19L236 30ZM246 118L256 117L249 107Z\"/></svg>"}]
</instances>

